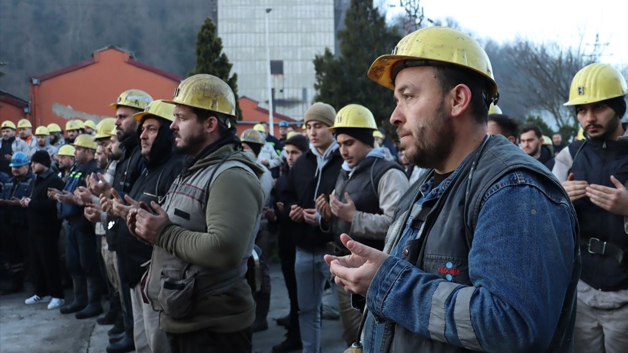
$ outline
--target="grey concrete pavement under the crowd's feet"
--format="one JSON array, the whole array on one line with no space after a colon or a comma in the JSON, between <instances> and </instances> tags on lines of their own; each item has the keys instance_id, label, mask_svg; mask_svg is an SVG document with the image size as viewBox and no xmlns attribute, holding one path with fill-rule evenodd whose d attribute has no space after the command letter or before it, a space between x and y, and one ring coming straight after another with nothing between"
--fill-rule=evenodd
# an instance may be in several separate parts
<instances>
[{"instance_id":1,"label":"grey concrete pavement under the crowd's feet","mask_svg":"<svg viewBox=\"0 0 628 353\"><path fill-rule=\"evenodd\" d=\"M290 309L283 274L278 264L271 264L271 307L268 313L268 330L253 335L253 352L271 352L273 345L284 339L286 330L275 320ZM26 284L30 288L30 284ZM0 296L0 353L24 352L105 352L107 330L95 318L77 320L74 315L61 315L48 310L47 304L25 305L30 291ZM66 292L72 298L72 292ZM345 344L340 337L338 320L323 320L322 352L342 352Z\"/></svg>"}]
</instances>

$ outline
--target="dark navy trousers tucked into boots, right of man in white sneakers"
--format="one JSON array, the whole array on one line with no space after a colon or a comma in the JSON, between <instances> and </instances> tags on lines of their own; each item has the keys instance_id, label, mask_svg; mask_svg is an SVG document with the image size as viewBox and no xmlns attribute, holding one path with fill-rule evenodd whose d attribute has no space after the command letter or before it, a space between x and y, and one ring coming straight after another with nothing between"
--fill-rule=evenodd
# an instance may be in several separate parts
<instances>
[{"instance_id":1,"label":"dark navy trousers tucked into boots, right of man in white sneakers","mask_svg":"<svg viewBox=\"0 0 628 353\"><path fill-rule=\"evenodd\" d=\"M65 231L65 263L70 275L102 277L94 227L82 221L70 222Z\"/></svg>"}]
</instances>

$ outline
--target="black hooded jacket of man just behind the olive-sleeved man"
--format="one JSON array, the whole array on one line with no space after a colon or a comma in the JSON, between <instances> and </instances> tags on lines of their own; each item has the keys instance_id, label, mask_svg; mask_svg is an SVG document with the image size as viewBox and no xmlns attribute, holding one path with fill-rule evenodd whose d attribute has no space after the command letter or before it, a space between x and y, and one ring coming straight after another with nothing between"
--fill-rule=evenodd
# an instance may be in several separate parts
<instances>
[{"instance_id":1,"label":"black hooded jacket of man just behind the olive-sleeved man","mask_svg":"<svg viewBox=\"0 0 628 353\"><path fill-rule=\"evenodd\" d=\"M138 202L150 206L151 201L160 203L170 185L181 171L183 156L172 151L175 140L170 130L170 122L160 119L161 126L157 133L148 158L143 158L145 166L138 180L131 188L129 196ZM143 123L139 124L138 136ZM117 238L117 256L120 259L121 280L130 288L136 286L147 267L141 266L151 259L153 246L131 235L126 224L119 224Z\"/></svg>"}]
</instances>

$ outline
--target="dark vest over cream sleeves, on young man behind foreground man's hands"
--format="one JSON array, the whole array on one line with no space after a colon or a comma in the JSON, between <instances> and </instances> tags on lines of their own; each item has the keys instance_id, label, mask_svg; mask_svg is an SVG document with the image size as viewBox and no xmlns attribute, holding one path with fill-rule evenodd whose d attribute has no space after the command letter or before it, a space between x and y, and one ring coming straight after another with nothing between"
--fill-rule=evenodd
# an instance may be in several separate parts
<instances>
[{"instance_id":1,"label":"dark vest over cream sleeves, on young man behind foreground man's hands","mask_svg":"<svg viewBox=\"0 0 628 353\"><path fill-rule=\"evenodd\" d=\"M360 161L355 167L353 174L349 177L349 171L340 170L340 175L336 180L334 196L341 202L345 200L345 192L349 193L349 197L354 201L355 209L367 214L382 214L379 207L379 181L384 174L391 169L403 171L397 163L387 161L384 158L367 157ZM341 249L340 256L350 254L349 250L340 242L340 234L347 233L357 242L365 244L376 249L384 249L384 236L381 234L381 240L357 237L350 234L351 222L333 217L332 232L337 249Z\"/></svg>"}]
</instances>

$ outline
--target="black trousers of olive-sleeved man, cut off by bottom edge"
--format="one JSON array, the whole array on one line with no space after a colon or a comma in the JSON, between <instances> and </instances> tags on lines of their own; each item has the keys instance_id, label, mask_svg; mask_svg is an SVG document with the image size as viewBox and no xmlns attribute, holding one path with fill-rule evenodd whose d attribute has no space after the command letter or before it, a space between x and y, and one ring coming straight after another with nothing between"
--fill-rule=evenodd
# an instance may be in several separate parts
<instances>
[{"instance_id":1,"label":"black trousers of olive-sleeved man, cut off by bottom edge","mask_svg":"<svg viewBox=\"0 0 628 353\"><path fill-rule=\"evenodd\" d=\"M172 353L250 353L253 349L250 327L229 334L201 330L166 335Z\"/></svg>"}]
</instances>

